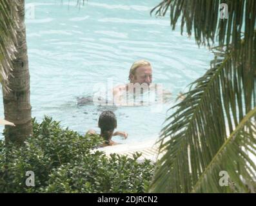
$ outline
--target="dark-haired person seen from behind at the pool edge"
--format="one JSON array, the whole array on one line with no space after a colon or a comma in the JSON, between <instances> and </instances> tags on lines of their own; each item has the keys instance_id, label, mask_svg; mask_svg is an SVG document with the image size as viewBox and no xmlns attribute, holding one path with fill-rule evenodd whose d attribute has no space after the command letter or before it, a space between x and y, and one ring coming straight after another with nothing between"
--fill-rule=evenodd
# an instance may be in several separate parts
<instances>
[{"instance_id":1,"label":"dark-haired person seen from behind at the pool edge","mask_svg":"<svg viewBox=\"0 0 256 206\"><path fill-rule=\"evenodd\" d=\"M101 136L104 138L104 142L100 147L117 145L116 142L113 142L112 136L123 136L127 138L128 134L123 131L113 132L117 127L117 118L112 111L103 111L99 117L98 126L101 128ZM96 135L96 131L94 129L90 129L86 133L87 135Z\"/></svg>"}]
</instances>

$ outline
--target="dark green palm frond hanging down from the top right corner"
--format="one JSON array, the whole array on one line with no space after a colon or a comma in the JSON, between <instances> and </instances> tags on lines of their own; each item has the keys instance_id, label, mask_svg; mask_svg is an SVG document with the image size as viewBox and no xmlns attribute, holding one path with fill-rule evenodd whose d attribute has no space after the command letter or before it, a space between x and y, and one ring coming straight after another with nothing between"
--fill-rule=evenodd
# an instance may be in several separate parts
<instances>
[{"instance_id":1,"label":"dark green palm frond hanging down from the top right corner","mask_svg":"<svg viewBox=\"0 0 256 206\"><path fill-rule=\"evenodd\" d=\"M228 19L221 19L221 3L228 5ZM219 46L231 45L234 55L244 58L248 69L253 69L253 39L256 26L255 0L164 0L152 9L151 14L166 15L170 10L170 21L173 30L179 18L181 33L186 25L188 35L195 34L197 44L208 46L215 39ZM244 39L244 53L241 53L241 39Z\"/></svg>"}]
</instances>

